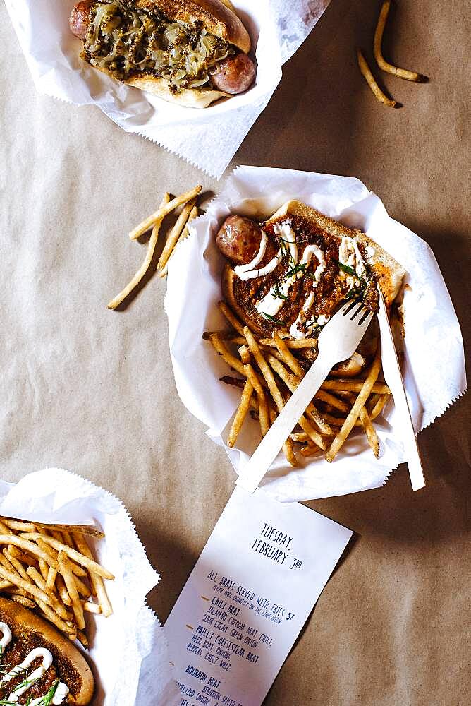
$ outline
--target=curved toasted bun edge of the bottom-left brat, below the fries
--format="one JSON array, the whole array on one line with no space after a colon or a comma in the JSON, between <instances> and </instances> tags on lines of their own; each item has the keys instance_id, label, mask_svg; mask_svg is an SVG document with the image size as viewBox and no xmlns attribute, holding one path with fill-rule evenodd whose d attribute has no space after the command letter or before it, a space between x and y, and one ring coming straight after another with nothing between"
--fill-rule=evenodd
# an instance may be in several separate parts
<instances>
[{"instance_id":1,"label":"curved toasted bun edge of the bottom-left brat, below the fries","mask_svg":"<svg viewBox=\"0 0 471 706\"><path fill-rule=\"evenodd\" d=\"M6 598L0 598L0 621L8 625L13 638L18 638L21 633L36 633L53 655L57 674L70 689L75 706L90 704L94 690L93 674L71 640L61 635L51 623Z\"/></svg>"}]
</instances>

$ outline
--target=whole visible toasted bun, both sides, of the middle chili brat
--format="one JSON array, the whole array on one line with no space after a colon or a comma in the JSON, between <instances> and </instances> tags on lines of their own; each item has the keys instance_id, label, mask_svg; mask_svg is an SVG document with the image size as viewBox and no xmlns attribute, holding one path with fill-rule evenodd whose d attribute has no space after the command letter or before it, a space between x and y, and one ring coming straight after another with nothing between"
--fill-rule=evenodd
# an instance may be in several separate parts
<instances>
[{"instance_id":1,"label":"whole visible toasted bun, both sides, of the middle chili brat","mask_svg":"<svg viewBox=\"0 0 471 706\"><path fill-rule=\"evenodd\" d=\"M305 203L301 201L286 202L269 218L267 223L279 221L290 215L299 216L303 220L312 223L312 225L320 226L324 232L338 239L345 236L355 237L361 244L372 248L374 253L368 258L368 264L371 265L374 273L377 275L378 283L381 287L381 292L383 292L386 304L388 306L392 304L398 295L405 270L389 253L382 249L381 246L367 237L362 231L348 228L333 218L329 218L314 208L310 208L310 206L305 205ZM231 306L231 309L233 309L234 313L236 313L242 321L250 323L250 328L252 328L255 333L259 335L270 335L271 330L274 328L273 324L269 321L262 320L260 316L254 316L252 304L240 296L240 292L238 293L238 282L240 282L240 280L234 272L232 265L225 263L221 276L221 289L229 306ZM356 362L359 363L360 361ZM356 372L357 366L354 360L349 361L349 366L351 370ZM342 374L347 373L343 371Z\"/></svg>"}]
</instances>

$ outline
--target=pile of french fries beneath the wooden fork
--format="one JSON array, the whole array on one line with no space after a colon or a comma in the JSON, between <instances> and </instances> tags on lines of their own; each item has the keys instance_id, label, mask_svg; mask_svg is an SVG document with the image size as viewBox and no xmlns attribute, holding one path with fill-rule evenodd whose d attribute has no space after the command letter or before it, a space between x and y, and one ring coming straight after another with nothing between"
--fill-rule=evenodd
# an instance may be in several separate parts
<instances>
[{"instance_id":1,"label":"pile of french fries beneath the wooden fork","mask_svg":"<svg viewBox=\"0 0 471 706\"><path fill-rule=\"evenodd\" d=\"M242 390L240 405L228 433L227 444L235 445L247 414L259 421L263 436L281 412L288 397L305 376L296 354L317 346L314 338L293 339L274 333L262 338L235 316L224 301L219 309L232 330L207 331L216 352L240 377L224 376L221 381ZM292 466L298 465L295 445L302 456L324 455L333 461L353 429L362 429L374 455L379 457L379 439L372 422L381 414L391 395L388 385L378 381L381 371L379 347L362 376L327 378L314 396L298 426L286 439L283 453Z\"/></svg>"}]
</instances>

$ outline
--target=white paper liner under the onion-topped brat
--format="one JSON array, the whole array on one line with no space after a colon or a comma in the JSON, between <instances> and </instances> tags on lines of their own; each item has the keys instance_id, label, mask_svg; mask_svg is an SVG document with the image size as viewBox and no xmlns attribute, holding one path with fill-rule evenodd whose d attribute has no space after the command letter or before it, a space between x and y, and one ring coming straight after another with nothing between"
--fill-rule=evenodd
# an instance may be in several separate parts
<instances>
[{"instance_id":1,"label":"white paper liner under the onion-topped brat","mask_svg":"<svg viewBox=\"0 0 471 706\"><path fill-rule=\"evenodd\" d=\"M219 179L279 84L281 65L329 1L235 1L252 37L257 80L243 95L203 110L128 88L82 61L81 42L68 27L76 0L6 0L6 7L39 92L75 105L97 105L127 132L149 138Z\"/></svg>"}]
</instances>

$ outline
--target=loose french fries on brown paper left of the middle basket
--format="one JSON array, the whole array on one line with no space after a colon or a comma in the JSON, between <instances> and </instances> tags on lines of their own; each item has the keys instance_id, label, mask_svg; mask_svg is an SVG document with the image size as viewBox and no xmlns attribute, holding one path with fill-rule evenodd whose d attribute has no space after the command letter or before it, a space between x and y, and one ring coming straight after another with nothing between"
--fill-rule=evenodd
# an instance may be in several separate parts
<instances>
[{"instance_id":1,"label":"loose french fries on brown paper left of the middle basket","mask_svg":"<svg viewBox=\"0 0 471 706\"><path fill-rule=\"evenodd\" d=\"M164 249L161 252L159 262L157 263L157 272L159 273L159 277L166 277L169 259L171 258L176 244L188 237L188 224L198 215L197 196L201 189L201 186L195 186L194 189L181 193L180 196L176 196L175 198L170 198L170 194L165 193L157 211L152 213L152 215L133 228L129 234L130 240L137 240L137 238L140 238L142 235L147 233L147 231L151 231L145 258L142 265L137 270L137 273L135 273L134 277L130 280L130 282L128 282L126 287L121 289L121 292L116 294L114 299L111 299L107 305L108 309L116 309L117 306L122 304L126 297L128 297L140 284L147 272L149 272L157 248L157 241L159 240L159 232L162 222L164 218L169 215L169 213L172 213L172 211L176 210L178 207L181 207L181 211L178 214L176 222L167 234Z\"/></svg>"}]
</instances>

